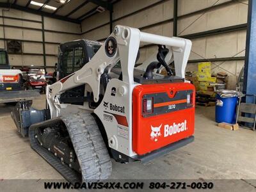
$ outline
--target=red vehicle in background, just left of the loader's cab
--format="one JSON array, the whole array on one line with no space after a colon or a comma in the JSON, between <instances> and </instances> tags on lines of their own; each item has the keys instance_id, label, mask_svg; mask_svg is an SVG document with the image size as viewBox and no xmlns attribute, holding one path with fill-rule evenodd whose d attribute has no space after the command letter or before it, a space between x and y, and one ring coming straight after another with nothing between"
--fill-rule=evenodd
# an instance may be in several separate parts
<instances>
[{"instance_id":1,"label":"red vehicle in background, just left of the loader's cab","mask_svg":"<svg viewBox=\"0 0 256 192\"><path fill-rule=\"evenodd\" d=\"M43 67L29 67L26 69L24 79L26 80L25 87L27 90L39 89L41 93L45 93L47 82Z\"/></svg>"}]
</instances>

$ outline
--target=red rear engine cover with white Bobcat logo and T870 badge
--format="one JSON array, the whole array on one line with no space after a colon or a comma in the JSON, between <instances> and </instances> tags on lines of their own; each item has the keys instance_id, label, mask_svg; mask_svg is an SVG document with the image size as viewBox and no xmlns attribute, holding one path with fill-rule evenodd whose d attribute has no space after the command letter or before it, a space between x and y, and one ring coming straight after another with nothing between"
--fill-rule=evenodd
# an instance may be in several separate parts
<instances>
[{"instance_id":1,"label":"red rear engine cover with white Bobcat logo and T870 badge","mask_svg":"<svg viewBox=\"0 0 256 192\"><path fill-rule=\"evenodd\" d=\"M143 100L147 99L152 100L153 107L149 113L143 113ZM147 154L193 135L195 128L193 84L139 85L133 90L132 101L132 149L137 154Z\"/></svg>"}]
</instances>

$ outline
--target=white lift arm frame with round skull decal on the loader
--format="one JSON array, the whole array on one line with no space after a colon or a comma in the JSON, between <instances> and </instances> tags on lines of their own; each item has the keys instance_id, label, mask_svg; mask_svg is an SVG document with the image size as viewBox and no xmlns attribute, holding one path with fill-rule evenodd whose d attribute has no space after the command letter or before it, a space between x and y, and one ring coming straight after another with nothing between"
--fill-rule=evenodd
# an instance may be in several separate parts
<instances>
[{"instance_id":1,"label":"white lift arm frame with round skull decal on the loader","mask_svg":"<svg viewBox=\"0 0 256 192\"><path fill-rule=\"evenodd\" d=\"M110 70L119 60L122 68L122 81L128 84L134 84L133 71L140 42L170 47L170 52L173 52L175 61L176 76L184 77L191 50L190 40L152 35L150 33L143 33L136 28L116 26L104 45L100 47L92 60L86 63L83 68L47 86L47 102L52 118L59 115L58 108L60 102L58 97L60 94L81 84L88 84L92 88L93 99L97 102L100 93L100 76L107 67Z\"/></svg>"}]
</instances>

